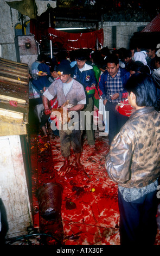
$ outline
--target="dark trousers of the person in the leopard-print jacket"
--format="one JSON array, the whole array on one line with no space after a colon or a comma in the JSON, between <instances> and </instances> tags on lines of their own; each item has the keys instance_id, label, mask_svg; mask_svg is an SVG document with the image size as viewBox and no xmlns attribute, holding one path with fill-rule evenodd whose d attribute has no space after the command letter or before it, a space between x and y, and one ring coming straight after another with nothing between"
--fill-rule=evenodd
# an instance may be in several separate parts
<instances>
[{"instance_id":1,"label":"dark trousers of the person in the leopard-print jacket","mask_svg":"<svg viewBox=\"0 0 160 256\"><path fill-rule=\"evenodd\" d=\"M118 192L120 245L153 245L157 234L156 193L126 202Z\"/></svg>"}]
</instances>

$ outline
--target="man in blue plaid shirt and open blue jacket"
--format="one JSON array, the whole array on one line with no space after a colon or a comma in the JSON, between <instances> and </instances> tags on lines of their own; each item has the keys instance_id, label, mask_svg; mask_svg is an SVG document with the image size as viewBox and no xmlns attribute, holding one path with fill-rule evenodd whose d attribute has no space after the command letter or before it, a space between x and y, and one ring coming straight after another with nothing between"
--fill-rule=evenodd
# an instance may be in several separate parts
<instances>
[{"instance_id":1,"label":"man in blue plaid shirt and open blue jacket","mask_svg":"<svg viewBox=\"0 0 160 256\"><path fill-rule=\"evenodd\" d=\"M130 73L119 66L118 57L110 54L106 58L106 71L101 75L99 88L102 92L102 99L106 111L109 111L109 144L114 136L120 131L129 117L121 115L116 111L116 105L122 100L125 91L125 84L130 77ZM125 100L125 99L123 99Z\"/></svg>"}]
</instances>

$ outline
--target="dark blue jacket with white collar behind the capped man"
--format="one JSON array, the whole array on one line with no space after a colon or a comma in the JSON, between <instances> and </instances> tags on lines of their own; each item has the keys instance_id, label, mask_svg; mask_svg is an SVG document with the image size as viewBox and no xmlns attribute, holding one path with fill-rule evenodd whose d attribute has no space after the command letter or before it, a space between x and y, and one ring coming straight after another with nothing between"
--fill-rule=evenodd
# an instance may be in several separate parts
<instances>
[{"instance_id":1,"label":"dark blue jacket with white collar behind the capped man","mask_svg":"<svg viewBox=\"0 0 160 256\"><path fill-rule=\"evenodd\" d=\"M94 76L93 68L92 66L86 63L84 66L84 70L82 72L79 70L77 64L73 66L72 77L84 86L85 92L86 92L86 87L91 87L93 83L97 85L97 80ZM88 95L88 96L90 97L92 95Z\"/></svg>"}]
</instances>

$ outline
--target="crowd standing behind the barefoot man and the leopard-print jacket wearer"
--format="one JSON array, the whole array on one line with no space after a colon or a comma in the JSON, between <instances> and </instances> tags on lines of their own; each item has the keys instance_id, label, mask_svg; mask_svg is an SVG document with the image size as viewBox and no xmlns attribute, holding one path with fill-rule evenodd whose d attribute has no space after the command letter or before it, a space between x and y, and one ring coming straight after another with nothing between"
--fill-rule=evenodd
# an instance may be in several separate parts
<instances>
[{"instance_id":1,"label":"crowd standing behind the barefoot man and the leopard-print jacket wearer","mask_svg":"<svg viewBox=\"0 0 160 256\"><path fill-rule=\"evenodd\" d=\"M109 70L107 67L107 65L110 65L107 63L108 57L112 58L110 63L114 63L115 72L111 72L111 68ZM113 59L113 57L115 58ZM118 57L118 63L116 57ZM122 96L121 93L119 96L114 94L125 90L124 87L127 79L136 72L145 72L146 74L150 74L152 76L153 80L155 80L157 84L157 87L159 88L159 57L156 55L156 48L150 47L149 49L144 49L138 46L136 49L128 50L126 48L119 48L118 50L116 49L111 51L108 47L104 47L100 50L92 49L92 51L90 51L80 49L78 51L72 51L69 53L63 50L57 53L53 59L50 59L44 54L39 54L37 60L35 60L31 66L30 88L33 95L30 97L30 99L34 99L34 90L35 94L38 94L37 99L34 99L36 105L34 112L37 120L40 122L40 128L43 130L44 136L47 136L46 124L48 119L46 117L44 118L42 97L40 95L42 95L44 90L46 90L50 84L52 84L56 79L59 79L59 76L57 75L57 66L64 59L68 59L70 62L72 68L71 76L82 83L85 93L87 92L87 103L83 110L91 113L93 109L99 109L99 117L102 113L103 124L105 123L105 131L103 135L109 136L110 144L113 137L120 130L120 127L127 120L127 117L122 117L121 115L120 117L117 117L117 111L114 113L115 115L113 115L113 112L111 115L110 109L110 107L113 107L114 109L116 103L124 100L124 96ZM41 71L41 74L39 71ZM118 89L116 85L116 87L114 86L114 90L112 88L112 92L110 89L108 92L104 92L104 90L106 90L106 87L104 87L103 84L106 82L104 81L104 76L106 76L106 80L108 80L107 74L109 74L108 77L113 78L114 75L117 77L117 72L121 76L121 88ZM116 80L116 78L114 80ZM89 87L93 87L93 92L96 90L96 93L98 89L99 95L94 96L91 94L91 92L88 92ZM110 87L112 87L112 84ZM111 97L110 95L113 96ZM57 100L54 99L54 102L55 101L57 105ZM55 108L54 102L52 102L52 106L50 107L54 106ZM110 106L108 106L109 103L111 103ZM111 120L106 119L106 111L109 111ZM116 120L116 123L118 122L118 126L115 125L116 123L113 120ZM45 124L44 121L46 121ZM112 127L113 123L114 127ZM91 120L85 120L85 127L86 125L87 127L91 126L91 129L85 129L85 132L87 135L88 144L91 145L91 148L94 148L95 140L92 118ZM59 131L54 131L54 133L57 135ZM84 133L83 136L85 136Z\"/></svg>"}]
</instances>

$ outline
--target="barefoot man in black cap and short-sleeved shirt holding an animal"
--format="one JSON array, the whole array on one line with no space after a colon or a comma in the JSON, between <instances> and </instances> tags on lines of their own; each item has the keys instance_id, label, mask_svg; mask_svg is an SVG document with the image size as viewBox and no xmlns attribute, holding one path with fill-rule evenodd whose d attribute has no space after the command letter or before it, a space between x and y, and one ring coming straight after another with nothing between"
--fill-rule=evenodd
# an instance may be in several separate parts
<instances>
[{"instance_id":1,"label":"barefoot man in black cap and short-sleeved shirt holding an animal","mask_svg":"<svg viewBox=\"0 0 160 256\"><path fill-rule=\"evenodd\" d=\"M52 100L55 95L57 95L57 101L59 106L62 106L66 101L73 105L71 108L63 107L64 111L69 111L74 113L78 117L71 129L69 123L67 128L65 126L59 127L60 140L61 140L61 153L65 157L65 163L60 169L60 175L64 174L65 170L69 166L69 155L71 153L70 146L72 143L72 148L75 153L75 163L76 167L80 170L83 166L80 163L81 155L81 130L80 130L80 110L84 108L86 103L85 90L82 84L75 81L71 77L71 66L68 60L62 60L57 68L58 74L60 76L59 80L53 82L48 89L43 93L43 105L45 113L51 113L48 105L48 101ZM77 128L78 127L78 128Z\"/></svg>"}]
</instances>

